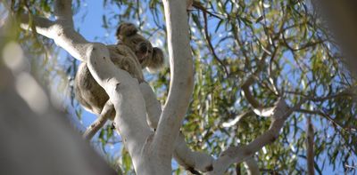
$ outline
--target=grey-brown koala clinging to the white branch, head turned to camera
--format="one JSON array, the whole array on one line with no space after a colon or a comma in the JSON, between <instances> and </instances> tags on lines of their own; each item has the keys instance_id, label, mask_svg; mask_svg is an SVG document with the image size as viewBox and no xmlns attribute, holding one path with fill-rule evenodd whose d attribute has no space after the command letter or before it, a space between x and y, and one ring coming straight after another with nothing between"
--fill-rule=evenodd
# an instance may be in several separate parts
<instances>
[{"instance_id":1,"label":"grey-brown koala clinging to the white branch, head turned to camera","mask_svg":"<svg viewBox=\"0 0 357 175\"><path fill-rule=\"evenodd\" d=\"M116 31L118 44L107 45L114 65L123 69L138 82L144 82L142 69L149 71L161 68L163 65L163 52L138 34L137 28L131 23L122 23ZM104 89L95 82L94 77L87 68L87 63L79 65L79 70L74 81L76 99L89 112L100 115L109 96ZM110 111L110 119L115 116L115 110Z\"/></svg>"}]
</instances>

